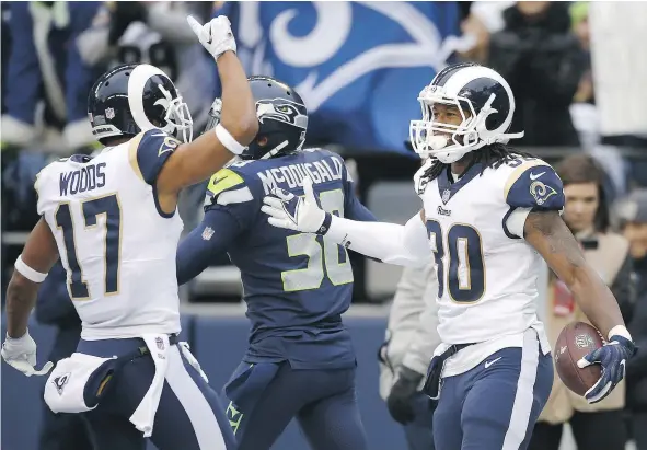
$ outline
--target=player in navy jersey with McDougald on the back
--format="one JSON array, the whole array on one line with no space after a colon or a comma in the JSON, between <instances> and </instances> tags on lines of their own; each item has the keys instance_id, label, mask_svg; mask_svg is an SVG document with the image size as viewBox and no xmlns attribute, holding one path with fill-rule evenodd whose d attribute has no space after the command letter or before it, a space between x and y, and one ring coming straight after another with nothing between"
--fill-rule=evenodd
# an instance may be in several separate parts
<instances>
[{"instance_id":1,"label":"player in navy jersey with McDougald on the back","mask_svg":"<svg viewBox=\"0 0 647 450\"><path fill-rule=\"evenodd\" d=\"M308 111L299 94L268 77L250 78L250 86L258 134L211 177L203 223L177 251L177 280L194 278L223 252L241 270L252 331L222 390L241 450L269 449L292 418L313 449L362 450L355 351L342 322L353 295L346 249L269 226L261 205L274 188L302 195L309 176L324 210L376 219L357 199L339 155L302 149Z\"/></svg>"}]
</instances>

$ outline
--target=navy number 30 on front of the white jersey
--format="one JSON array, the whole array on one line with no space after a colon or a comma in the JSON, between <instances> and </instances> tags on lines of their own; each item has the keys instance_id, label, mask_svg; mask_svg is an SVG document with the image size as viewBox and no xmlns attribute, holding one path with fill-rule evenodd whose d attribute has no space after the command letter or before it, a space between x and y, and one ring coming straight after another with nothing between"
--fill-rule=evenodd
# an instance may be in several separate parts
<instances>
[{"instance_id":1,"label":"navy number 30 on front of the white jersey","mask_svg":"<svg viewBox=\"0 0 647 450\"><path fill-rule=\"evenodd\" d=\"M438 266L438 298L444 295L446 279L449 297L459 303L473 303L485 292L483 242L475 228L454 223L443 236L440 223L427 221L431 250ZM449 252L444 266L444 252Z\"/></svg>"}]
</instances>

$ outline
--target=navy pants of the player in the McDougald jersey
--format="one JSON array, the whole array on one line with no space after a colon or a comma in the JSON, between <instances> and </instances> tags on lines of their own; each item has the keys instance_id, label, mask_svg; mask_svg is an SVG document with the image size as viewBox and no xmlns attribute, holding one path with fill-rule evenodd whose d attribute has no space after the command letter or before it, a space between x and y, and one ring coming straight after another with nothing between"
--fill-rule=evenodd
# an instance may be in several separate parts
<instances>
[{"instance_id":1,"label":"navy pants of the player in the McDougald jersey","mask_svg":"<svg viewBox=\"0 0 647 450\"><path fill-rule=\"evenodd\" d=\"M314 450L366 450L355 368L298 370L242 362L222 390L239 450L267 450L297 418Z\"/></svg>"}]
</instances>

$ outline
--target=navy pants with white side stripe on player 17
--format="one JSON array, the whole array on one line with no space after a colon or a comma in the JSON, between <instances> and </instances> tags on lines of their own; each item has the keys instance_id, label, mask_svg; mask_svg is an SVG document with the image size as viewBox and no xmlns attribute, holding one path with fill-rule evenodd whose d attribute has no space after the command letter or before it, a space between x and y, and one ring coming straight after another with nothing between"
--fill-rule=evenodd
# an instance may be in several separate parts
<instances>
[{"instance_id":1,"label":"navy pants with white side stripe on player 17","mask_svg":"<svg viewBox=\"0 0 647 450\"><path fill-rule=\"evenodd\" d=\"M78 351L100 357L132 354L141 339L81 341ZM235 441L218 394L173 345L151 440L159 450L233 450ZM126 364L108 381L99 406L82 416L94 450L145 450L143 434L129 422L154 374L150 356Z\"/></svg>"}]
</instances>

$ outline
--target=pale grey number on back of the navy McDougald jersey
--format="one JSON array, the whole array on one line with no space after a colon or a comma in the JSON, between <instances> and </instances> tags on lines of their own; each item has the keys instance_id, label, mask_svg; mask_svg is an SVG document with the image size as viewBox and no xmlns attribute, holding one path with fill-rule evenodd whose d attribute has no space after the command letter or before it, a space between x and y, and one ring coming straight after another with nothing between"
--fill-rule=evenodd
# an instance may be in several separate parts
<instances>
[{"instance_id":1,"label":"pale grey number on back of the navy McDougald jersey","mask_svg":"<svg viewBox=\"0 0 647 450\"><path fill-rule=\"evenodd\" d=\"M344 215L344 192L342 189L326 191L319 195L321 208L330 214ZM323 236L312 233L294 234L287 238L288 255L308 256L308 266L294 270L281 272L284 290L293 292L299 290L317 289L327 275L335 286L353 282L353 268L346 249L335 242L328 242ZM346 259L339 263L340 256Z\"/></svg>"}]
</instances>

